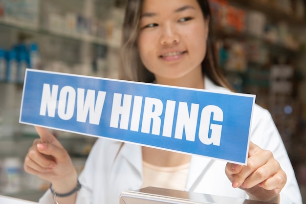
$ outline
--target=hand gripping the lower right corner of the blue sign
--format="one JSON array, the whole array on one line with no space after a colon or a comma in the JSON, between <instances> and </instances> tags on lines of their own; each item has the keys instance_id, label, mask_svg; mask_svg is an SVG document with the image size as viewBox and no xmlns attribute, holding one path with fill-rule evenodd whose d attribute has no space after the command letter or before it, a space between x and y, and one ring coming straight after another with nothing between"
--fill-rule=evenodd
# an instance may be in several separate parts
<instances>
[{"instance_id":1,"label":"hand gripping the lower right corner of the blue sign","mask_svg":"<svg viewBox=\"0 0 306 204\"><path fill-rule=\"evenodd\" d=\"M250 141L247 166L227 163L225 174L234 188L243 189L252 200L280 202L287 177L270 151Z\"/></svg>"}]
</instances>

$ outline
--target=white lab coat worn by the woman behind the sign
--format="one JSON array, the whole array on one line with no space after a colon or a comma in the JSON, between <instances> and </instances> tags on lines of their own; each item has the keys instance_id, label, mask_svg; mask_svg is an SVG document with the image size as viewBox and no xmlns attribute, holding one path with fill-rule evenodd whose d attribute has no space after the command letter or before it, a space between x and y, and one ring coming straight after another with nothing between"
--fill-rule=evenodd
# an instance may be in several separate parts
<instances>
[{"instance_id":1,"label":"white lab coat worn by the woman behind the sign","mask_svg":"<svg viewBox=\"0 0 306 204\"><path fill-rule=\"evenodd\" d=\"M205 88L210 91L228 91L214 85L207 77ZM258 105L253 110L251 141L272 151L274 158L286 172L287 183L281 192L281 204L302 204L300 190L281 136L270 113ZM141 187L141 147L129 143L125 143L121 149L120 147L119 141L104 138L96 141L79 177L83 187L78 192L76 204L118 204L121 192ZM185 190L247 199L243 190L231 186L224 172L225 165L225 161L192 156ZM50 190L44 194L40 203L52 204Z\"/></svg>"}]
</instances>

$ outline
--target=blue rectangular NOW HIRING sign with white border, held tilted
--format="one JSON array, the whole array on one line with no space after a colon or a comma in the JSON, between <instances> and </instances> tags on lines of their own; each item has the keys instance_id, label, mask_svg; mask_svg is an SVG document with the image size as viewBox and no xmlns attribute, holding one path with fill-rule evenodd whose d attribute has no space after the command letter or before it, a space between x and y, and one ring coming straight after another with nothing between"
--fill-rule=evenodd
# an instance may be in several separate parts
<instances>
[{"instance_id":1,"label":"blue rectangular NOW HIRING sign with white border, held tilted","mask_svg":"<svg viewBox=\"0 0 306 204\"><path fill-rule=\"evenodd\" d=\"M255 95L26 70L20 123L246 164Z\"/></svg>"}]
</instances>

